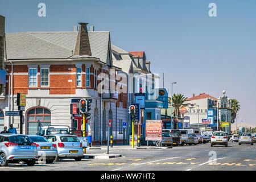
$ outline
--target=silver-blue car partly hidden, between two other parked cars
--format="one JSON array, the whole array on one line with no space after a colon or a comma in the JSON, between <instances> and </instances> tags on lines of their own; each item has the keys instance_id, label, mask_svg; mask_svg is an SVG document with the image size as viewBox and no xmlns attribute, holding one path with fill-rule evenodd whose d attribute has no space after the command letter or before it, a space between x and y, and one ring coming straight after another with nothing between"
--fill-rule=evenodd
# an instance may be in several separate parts
<instances>
[{"instance_id":1,"label":"silver-blue car partly hidden, between two other parked cars","mask_svg":"<svg viewBox=\"0 0 256 182\"><path fill-rule=\"evenodd\" d=\"M41 156L46 159L46 163L50 164L57 158L57 146L54 143L50 143L46 138L38 135L28 135L30 139L36 143L38 150L38 157Z\"/></svg>"}]
</instances>

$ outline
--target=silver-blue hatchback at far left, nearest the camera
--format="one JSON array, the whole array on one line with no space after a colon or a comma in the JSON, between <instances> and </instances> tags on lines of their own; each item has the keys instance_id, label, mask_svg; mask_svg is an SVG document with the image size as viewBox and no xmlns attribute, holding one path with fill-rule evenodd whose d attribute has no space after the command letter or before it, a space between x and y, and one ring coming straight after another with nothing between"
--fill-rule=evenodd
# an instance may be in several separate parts
<instances>
[{"instance_id":1,"label":"silver-blue hatchback at far left, nearest the camera","mask_svg":"<svg viewBox=\"0 0 256 182\"><path fill-rule=\"evenodd\" d=\"M0 166L24 162L34 166L38 159L36 144L27 136L20 134L0 134Z\"/></svg>"}]
</instances>

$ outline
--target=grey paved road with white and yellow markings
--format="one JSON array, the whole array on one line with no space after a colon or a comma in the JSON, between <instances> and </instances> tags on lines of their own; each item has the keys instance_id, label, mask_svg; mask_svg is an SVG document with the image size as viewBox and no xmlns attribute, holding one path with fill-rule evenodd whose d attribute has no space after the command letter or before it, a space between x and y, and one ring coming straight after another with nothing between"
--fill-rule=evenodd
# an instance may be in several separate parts
<instances>
[{"instance_id":1,"label":"grey paved road with white and yellow markings","mask_svg":"<svg viewBox=\"0 0 256 182\"><path fill-rule=\"evenodd\" d=\"M87 154L103 154L105 150L89 150ZM72 159L61 160L53 164L9 164L2 170L256 170L256 144L229 143L228 147L199 144L197 146L177 146L168 149L110 151L121 154L122 158L113 159Z\"/></svg>"}]
</instances>

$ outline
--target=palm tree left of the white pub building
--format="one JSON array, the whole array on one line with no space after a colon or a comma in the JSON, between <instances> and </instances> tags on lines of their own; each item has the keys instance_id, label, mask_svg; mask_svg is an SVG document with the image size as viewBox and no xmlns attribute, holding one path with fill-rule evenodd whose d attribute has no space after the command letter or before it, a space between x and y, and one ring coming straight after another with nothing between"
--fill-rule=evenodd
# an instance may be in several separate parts
<instances>
[{"instance_id":1,"label":"palm tree left of the white pub building","mask_svg":"<svg viewBox=\"0 0 256 182\"><path fill-rule=\"evenodd\" d=\"M184 104L184 102L187 100L187 97L184 97L181 94L174 94L172 96L172 106L174 107L174 116L180 117L180 107L185 107L190 105ZM171 105L171 97L169 97L168 104Z\"/></svg>"}]
</instances>

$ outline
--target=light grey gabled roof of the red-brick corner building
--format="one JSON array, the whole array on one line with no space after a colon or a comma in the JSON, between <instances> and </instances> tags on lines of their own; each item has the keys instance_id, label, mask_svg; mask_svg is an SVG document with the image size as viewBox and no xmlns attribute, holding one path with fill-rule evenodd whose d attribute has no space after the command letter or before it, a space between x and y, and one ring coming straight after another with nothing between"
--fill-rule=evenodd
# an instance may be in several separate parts
<instances>
[{"instance_id":1,"label":"light grey gabled roof of the red-brick corner building","mask_svg":"<svg viewBox=\"0 0 256 182\"><path fill-rule=\"evenodd\" d=\"M78 32L25 32L6 34L7 59L67 59L73 56ZM92 57L106 63L109 31L88 31Z\"/></svg>"}]
</instances>

